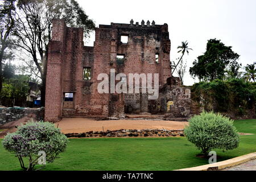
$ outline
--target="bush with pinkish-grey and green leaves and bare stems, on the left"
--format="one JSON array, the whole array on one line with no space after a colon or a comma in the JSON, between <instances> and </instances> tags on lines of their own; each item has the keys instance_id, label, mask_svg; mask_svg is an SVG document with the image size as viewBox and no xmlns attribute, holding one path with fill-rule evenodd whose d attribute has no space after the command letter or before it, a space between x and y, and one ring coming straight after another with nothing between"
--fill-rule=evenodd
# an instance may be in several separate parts
<instances>
[{"instance_id":1,"label":"bush with pinkish-grey and green leaves and bare stems, on the left","mask_svg":"<svg viewBox=\"0 0 256 182\"><path fill-rule=\"evenodd\" d=\"M15 154L23 169L31 171L38 163L40 151L45 152L46 162L52 163L65 150L67 142L67 137L54 124L28 122L19 126L15 133L7 134L2 144L7 151ZM28 158L28 167L24 166L23 158Z\"/></svg>"}]
</instances>

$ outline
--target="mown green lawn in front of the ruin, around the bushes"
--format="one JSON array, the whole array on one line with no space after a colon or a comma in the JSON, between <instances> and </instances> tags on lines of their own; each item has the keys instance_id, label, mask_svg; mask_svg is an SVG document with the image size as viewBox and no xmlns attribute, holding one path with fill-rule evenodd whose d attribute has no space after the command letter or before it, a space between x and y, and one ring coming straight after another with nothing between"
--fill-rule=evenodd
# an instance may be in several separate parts
<instances>
[{"instance_id":1,"label":"mown green lawn in front of the ruin, around the bushes","mask_svg":"<svg viewBox=\"0 0 256 182\"><path fill-rule=\"evenodd\" d=\"M239 132L256 134L256 119L234 122ZM216 150L220 160L256 151L256 135L241 136L236 150ZM174 170L207 164L185 137L70 139L67 151L44 170ZM18 159L0 145L0 170L20 170Z\"/></svg>"}]
</instances>

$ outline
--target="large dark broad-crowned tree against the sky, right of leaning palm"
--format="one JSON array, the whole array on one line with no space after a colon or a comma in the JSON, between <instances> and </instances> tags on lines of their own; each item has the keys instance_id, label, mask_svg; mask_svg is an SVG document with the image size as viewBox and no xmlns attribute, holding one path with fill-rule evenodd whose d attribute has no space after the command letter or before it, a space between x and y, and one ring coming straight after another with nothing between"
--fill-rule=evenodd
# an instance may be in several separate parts
<instances>
[{"instance_id":1,"label":"large dark broad-crowned tree against the sky, right of leaning palm","mask_svg":"<svg viewBox=\"0 0 256 182\"><path fill-rule=\"evenodd\" d=\"M225 69L232 65L237 65L240 55L232 51L231 46L225 46L221 40L210 39L204 55L197 57L193 62L193 67L189 73L199 80L212 81L223 79Z\"/></svg>"}]
</instances>

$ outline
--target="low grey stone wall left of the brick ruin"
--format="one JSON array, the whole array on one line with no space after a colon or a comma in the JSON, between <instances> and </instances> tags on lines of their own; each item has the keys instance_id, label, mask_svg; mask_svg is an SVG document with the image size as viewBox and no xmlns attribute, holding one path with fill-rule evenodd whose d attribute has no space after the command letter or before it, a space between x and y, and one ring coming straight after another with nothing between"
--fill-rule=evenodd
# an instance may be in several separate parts
<instances>
[{"instance_id":1,"label":"low grey stone wall left of the brick ruin","mask_svg":"<svg viewBox=\"0 0 256 182\"><path fill-rule=\"evenodd\" d=\"M16 121L30 114L35 114L36 120L40 121L44 119L44 108L41 107L38 109L32 109L24 107L0 107L0 125L4 125L5 123L11 121Z\"/></svg>"}]
</instances>

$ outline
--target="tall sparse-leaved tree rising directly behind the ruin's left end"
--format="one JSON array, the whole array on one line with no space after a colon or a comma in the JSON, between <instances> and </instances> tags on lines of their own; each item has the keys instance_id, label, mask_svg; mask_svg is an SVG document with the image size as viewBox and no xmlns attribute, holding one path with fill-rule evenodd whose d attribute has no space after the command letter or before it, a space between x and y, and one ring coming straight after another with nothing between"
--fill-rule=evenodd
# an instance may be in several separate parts
<instances>
[{"instance_id":1,"label":"tall sparse-leaved tree rising directly behind the ruin's left end","mask_svg":"<svg viewBox=\"0 0 256 182\"><path fill-rule=\"evenodd\" d=\"M30 54L38 69L44 105L48 43L51 40L53 19L64 18L68 26L83 27L85 35L94 30L95 24L75 0L18 0L17 7L14 34L19 44L15 45ZM24 61L30 65L29 60Z\"/></svg>"}]
</instances>

